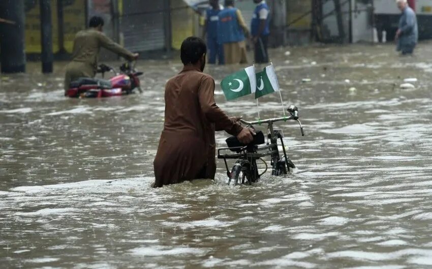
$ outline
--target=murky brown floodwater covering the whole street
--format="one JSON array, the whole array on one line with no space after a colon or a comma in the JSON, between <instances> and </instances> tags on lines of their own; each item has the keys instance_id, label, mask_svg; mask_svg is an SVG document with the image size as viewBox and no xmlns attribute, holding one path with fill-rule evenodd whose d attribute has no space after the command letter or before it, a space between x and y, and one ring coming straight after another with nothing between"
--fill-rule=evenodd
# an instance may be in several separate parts
<instances>
[{"instance_id":1,"label":"murky brown floodwater covering the whole street","mask_svg":"<svg viewBox=\"0 0 432 269\"><path fill-rule=\"evenodd\" d=\"M431 45L414 57L389 45L272 50L306 136L277 124L297 169L252 187L226 186L218 162L214 182L150 188L179 61L140 61L144 93L107 99L64 97L63 64L3 75L0 267L430 268ZM218 82L239 68L206 71ZM415 87L400 89L405 78ZM227 103L218 86L216 98L257 118L252 97ZM260 111L281 116L279 95Z\"/></svg>"}]
</instances>

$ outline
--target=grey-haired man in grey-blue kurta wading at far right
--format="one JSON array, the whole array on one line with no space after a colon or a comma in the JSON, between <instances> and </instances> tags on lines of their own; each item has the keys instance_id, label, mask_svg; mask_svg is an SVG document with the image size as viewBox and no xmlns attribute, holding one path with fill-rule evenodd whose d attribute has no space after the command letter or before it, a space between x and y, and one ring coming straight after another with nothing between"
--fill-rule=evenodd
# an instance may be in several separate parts
<instances>
[{"instance_id":1,"label":"grey-haired man in grey-blue kurta wading at far right","mask_svg":"<svg viewBox=\"0 0 432 269\"><path fill-rule=\"evenodd\" d=\"M402 11L399 28L396 32L397 51L402 55L414 52L418 41L418 26L415 12L408 6L407 0L397 0L397 7Z\"/></svg>"}]
</instances>

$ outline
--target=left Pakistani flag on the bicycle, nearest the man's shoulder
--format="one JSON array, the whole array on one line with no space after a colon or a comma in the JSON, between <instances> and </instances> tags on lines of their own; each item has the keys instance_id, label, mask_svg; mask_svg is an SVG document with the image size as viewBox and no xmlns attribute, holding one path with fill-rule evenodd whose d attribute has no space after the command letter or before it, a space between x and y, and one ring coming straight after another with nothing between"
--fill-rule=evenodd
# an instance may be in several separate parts
<instances>
[{"instance_id":1,"label":"left Pakistani flag on the bicycle, nearest the man's shoulder","mask_svg":"<svg viewBox=\"0 0 432 269\"><path fill-rule=\"evenodd\" d=\"M221 87L228 101L254 93L257 88L254 66L226 77L222 80Z\"/></svg>"}]
</instances>

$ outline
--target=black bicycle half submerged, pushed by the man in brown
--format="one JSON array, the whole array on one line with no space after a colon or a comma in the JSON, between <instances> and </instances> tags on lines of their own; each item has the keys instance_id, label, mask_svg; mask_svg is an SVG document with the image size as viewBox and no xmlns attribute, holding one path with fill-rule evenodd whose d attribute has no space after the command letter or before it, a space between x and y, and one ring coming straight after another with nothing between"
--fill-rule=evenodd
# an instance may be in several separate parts
<instances>
[{"instance_id":1,"label":"black bicycle half submerged, pushed by the man in brown","mask_svg":"<svg viewBox=\"0 0 432 269\"><path fill-rule=\"evenodd\" d=\"M218 158L224 159L227 176L229 178L228 185L238 185L239 183L252 185L252 183L257 182L268 170L268 165L263 160L263 157L266 156L270 156L270 165L272 166L271 174L273 176L286 175L290 172L290 169L295 169L294 163L287 156L282 130L274 129L273 127L274 122L294 120L300 125L301 136L304 137L303 126L298 117L298 108L291 105L288 108L288 112L291 115L290 117L272 118L253 122L240 120L246 127L252 128L254 128L253 125L256 124L268 124L267 144L265 146L260 146L265 143L262 131L257 131L254 141L248 145L241 144L235 137L230 137L226 140L228 148L218 149ZM282 158L277 144L278 139L281 141L283 149ZM229 170L227 159L237 159L231 171ZM265 171L261 174L258 172L257 165L257 160L259 159L262 160L266 166Z\"/></svg>"}]
</instances>

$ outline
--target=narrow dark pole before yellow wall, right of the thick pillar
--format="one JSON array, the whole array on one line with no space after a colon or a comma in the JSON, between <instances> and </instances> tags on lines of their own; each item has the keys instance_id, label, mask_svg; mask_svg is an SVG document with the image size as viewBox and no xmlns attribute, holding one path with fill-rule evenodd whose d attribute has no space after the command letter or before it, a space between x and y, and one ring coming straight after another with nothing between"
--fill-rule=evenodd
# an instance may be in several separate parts
<instances>
[{"instance_id":1,"label":"narrow dark pole before yellow wall, right of the thick pillar","mask_svg":"<svg viewBox=\"0 0 432 269\"><path fill-rule=\"evenodd\" d=\"M41 60L42 73L52 73L52 23L51 0L39 0L41 9Z\"/></svg>"}]
</instances>

